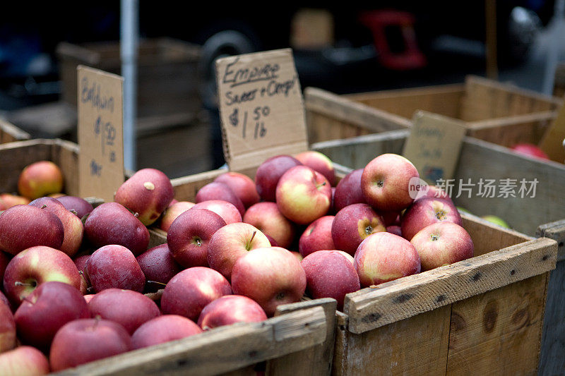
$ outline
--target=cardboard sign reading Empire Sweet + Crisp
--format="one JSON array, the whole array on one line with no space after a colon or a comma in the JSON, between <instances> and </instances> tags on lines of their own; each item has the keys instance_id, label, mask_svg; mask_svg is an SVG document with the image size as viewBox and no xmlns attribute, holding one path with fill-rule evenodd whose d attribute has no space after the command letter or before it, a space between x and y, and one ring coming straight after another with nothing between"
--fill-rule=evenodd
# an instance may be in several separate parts
<instances>
[{"instance_id":1,"label":"cardboard sign reading Empire Sweet + Crisp","mask_svg":"<svg viewBox=\"0 0 565 376\"><path fill-rule=\"evenodd\" d=\"M218 59L216 83L230 170L308 149L304 99L291 49Z\"/></svg>"}]
</instances>

